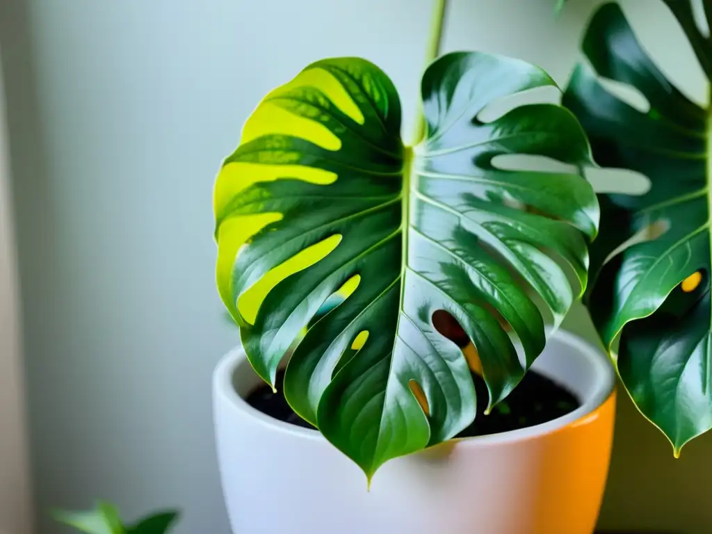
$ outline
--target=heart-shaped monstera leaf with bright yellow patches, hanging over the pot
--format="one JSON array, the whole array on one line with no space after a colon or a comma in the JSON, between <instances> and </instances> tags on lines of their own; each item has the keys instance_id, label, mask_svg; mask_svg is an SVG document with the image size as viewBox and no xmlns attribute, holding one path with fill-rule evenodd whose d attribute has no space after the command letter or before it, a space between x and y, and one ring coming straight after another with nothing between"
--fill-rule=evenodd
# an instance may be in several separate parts
<instances>
[{"instance_id":1,"label":"heart-shaped monstera leaf with bright yellow patches, hanging over the pot","mask_svg":"<svg viewBox=\"0 0 712 534\"><path fill-rule=\"evenodd\" d=\"M444 56L424 74L426 137L412 149L381 70L318 61L262 101L224 162L217 278L248 358L273 384L298 342L288 402L369 478L475 417L468 361L436 330L436 313L473 341L491 407L543 350L536 295L559 321L578 289L567 275L586 285L598 222L590 185L576 170L493 163L540 155L580 169L590 147L575 117L550 104L479 117L545 86L555 83L521 61ZM310 323L335 294L345 299Z\"/></svg>"}]
</instances>

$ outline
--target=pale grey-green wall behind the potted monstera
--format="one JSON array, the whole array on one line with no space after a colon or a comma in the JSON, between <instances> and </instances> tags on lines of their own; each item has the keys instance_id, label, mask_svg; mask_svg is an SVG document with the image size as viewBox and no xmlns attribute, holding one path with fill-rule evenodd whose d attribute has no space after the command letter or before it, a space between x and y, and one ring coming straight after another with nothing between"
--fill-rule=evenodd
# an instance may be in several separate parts
<instances>
[{"instance_id":1,"label":"pale grey-green wall behind the potted monstera","mask_svg":"<svg viewBox=\"0 0 712 534\"><path fill-rule=\"evenodd\" d=\"M555 20L554 0L452 0L445 48L520 56L564 83L596 3ZM213 286L214 173L261 95L322 56L378 63L412 118L429 4L0 1L39 510L177 505L178 533L228 532L209 387L236 332ZM625 5L698 83L680 39L656 42L661 4ZM569 325L591 335L585 317ZM712 524L712 439L673 461L625 400L618 429L602 523Z\"/></svg>"}]
</instances>

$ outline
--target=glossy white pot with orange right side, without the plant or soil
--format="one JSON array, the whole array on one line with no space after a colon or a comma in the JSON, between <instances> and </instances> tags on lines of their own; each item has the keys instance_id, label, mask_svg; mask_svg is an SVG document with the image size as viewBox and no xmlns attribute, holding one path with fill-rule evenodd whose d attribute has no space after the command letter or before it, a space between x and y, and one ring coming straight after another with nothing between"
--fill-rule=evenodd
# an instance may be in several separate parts
<instances>
[{"instance_id":1,"label":"glossy white pot with orange right side, without the plant or soil","mask_svg":"<svg viewBox=\"0 0 712 534\"><path fill-rule=\"evenodd\" d=\"M234 534L591 534L607 478L614 372L572 334L555 334L533 369L582 406L527 429L450 441L389 461L371 490L318 432L244 398L259 384L244 352L214 374L221 478Z\"/></svg>"}]
</instances>

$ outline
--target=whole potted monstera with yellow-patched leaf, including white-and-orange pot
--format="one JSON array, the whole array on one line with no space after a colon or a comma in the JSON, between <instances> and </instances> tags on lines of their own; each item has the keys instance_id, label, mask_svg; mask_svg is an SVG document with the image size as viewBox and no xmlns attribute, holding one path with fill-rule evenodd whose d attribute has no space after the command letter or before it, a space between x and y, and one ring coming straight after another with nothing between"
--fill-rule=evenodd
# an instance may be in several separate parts
<instances>
[{"instance_id":1,"label":"whole potted monstera with yellow-patched leaf, including white-and-orange pot","mask_svg":"<svg viewBox=\"0 0 712 534\"><path fill-rule=\"evenodd\" d=\"M387 76L328 59L263 99L216 180L217 282L242 340L214 376L236 534L594 528L614 374L577 338L548 336L587 285L590 147L559 105L494 113L557 87L512 58L437 58L444 8L436 1L412 147ZM538 374L523 379L530 366ZM476 411L501 420L530 377L580 406L451 439ZM251 407L260 380L283 385L320 433Z\"/></svg>"}]
</instances>

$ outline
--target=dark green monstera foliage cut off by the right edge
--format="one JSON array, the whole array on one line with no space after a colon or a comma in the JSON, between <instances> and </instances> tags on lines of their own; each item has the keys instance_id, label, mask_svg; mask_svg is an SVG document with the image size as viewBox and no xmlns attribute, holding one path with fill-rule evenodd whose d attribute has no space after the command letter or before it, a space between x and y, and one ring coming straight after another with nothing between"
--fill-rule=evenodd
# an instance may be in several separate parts
<instances>
[{"instance_id":1,"label":"dark green monstera foliage cut off by the right edge","mask_svg":"<svg viewBox=\"0 0 712 534\"><path fill-rule=\"evenodd\" d=\"M690 2L666 4L710 76L712 45L698 31ZM712 19L712 4L705 6ZM712 427L710 110L665 78L617 4L593 16L583 48L598 75L633 85L650 105L642 112L619 100L587 66L576 68L564 97L598 164L632 169L651 182L639 196L600 197L587 305L610 351L619 337L613 355L622 382L678 455Z\"/></svg>"}]
</instances>

